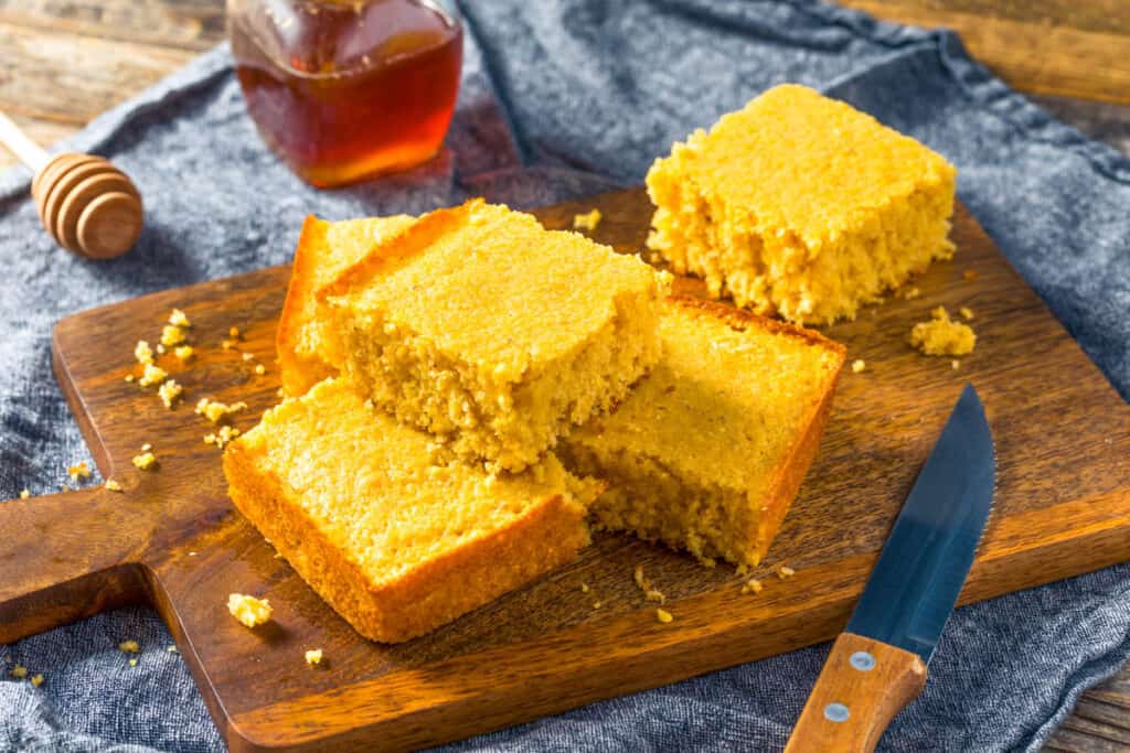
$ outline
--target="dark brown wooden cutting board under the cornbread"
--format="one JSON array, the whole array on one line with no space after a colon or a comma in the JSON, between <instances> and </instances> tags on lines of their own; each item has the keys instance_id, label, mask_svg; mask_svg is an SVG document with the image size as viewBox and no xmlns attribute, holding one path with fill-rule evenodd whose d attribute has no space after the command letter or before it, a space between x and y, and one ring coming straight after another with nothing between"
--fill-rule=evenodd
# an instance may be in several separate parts
<instances>
[{"instance_id":1,"label":"dark brown wooden cutting board under the cornbread","mask_svg":"<svg viewBox=\"0 0 1130 753\"><path fill-rule=\"evenodd\" d=\"M642 246L651 216L642 190L537 213L564 228L592 207L605 216L598 240ZM1130 560L1130 406L963 207L954 239L955 261L916 281L921 297L893 297L827 329L847 345L849 361L864 359L867 369L841 378L819 455L762 569L760 594L742 595L730 567L707 569L599 535L573 564L391 647L358 637L233 510L219 452L202 441L212 427L192 411L203 396L246 401L236 426L247 429L277 401L273 336L288 270L63 319L54 333L59 385L99 471L125 491L85 488L0 505L0 642L108 606L151 603L234 751L441 743L780 654L843 628L966 382L988 410L999 484L962 602ZM939 304L976 315L976 352L956 370L906 344L911 326ZM137 370L134 343L155 343L173 307L192 319L198 357L183 367L159 359L185 389L169 411L153 388L124 377ZM220 347L231 326L244 333L238 350ZM154 445L156 472L130 463L144 443ZM773 576L781 563L796 576ZM659 623L643 601L637 564L670 597L673 622ZM232 592L269 597L273 623L255 631L236 623L225 606ZM303 662L314 647L324 650L322 668Z\"/></svg>"}]
</instances>

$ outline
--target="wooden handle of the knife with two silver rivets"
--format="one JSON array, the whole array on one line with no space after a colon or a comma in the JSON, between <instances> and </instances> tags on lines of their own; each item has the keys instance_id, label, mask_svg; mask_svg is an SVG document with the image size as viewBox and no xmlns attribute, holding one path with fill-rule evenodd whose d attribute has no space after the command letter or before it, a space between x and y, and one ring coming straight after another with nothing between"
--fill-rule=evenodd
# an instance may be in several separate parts
<instances>
[{"instance_id":1,"label":"wooden handle of the knife with two silver rivets","mask_svg":"<svg viewBox=\"0 0 1130 753\"><path fill-rule=\"evenodd\" d=\"M840 633L785 753L872 751L890 720L924 685L925 665L918 654Z\"/></svg>"}]
</instances>

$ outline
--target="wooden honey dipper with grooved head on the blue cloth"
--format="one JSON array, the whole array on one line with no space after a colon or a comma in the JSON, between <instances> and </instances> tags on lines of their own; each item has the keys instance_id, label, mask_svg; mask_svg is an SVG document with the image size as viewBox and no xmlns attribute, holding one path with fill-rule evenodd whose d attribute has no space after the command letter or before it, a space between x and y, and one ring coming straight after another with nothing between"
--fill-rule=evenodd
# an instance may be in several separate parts
<instances>
[{"instance_id":1,"label":"wooden honey dipper with grooved head on the blue cloth","mask_svg":"<svg viewBox=\"0 0 1130 753\"><path fill-rule=\"evenodd\" d=\"M63 248L88 259L113 259L141 233L141 194L125 173L102 157L73 151L50 156L0 113L0 142L34 174L40 220Z\"/></svg>"}]
</instances>

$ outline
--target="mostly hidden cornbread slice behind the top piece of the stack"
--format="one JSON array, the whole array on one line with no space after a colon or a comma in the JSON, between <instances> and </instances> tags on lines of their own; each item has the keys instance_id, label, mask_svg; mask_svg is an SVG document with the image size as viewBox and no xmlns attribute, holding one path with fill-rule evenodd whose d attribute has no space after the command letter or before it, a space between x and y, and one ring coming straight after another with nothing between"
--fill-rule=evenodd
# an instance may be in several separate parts
<instances>
[{"instance_id":1,"label":"mostly hidden cornbread slice behind the top piece of the stack","mask_svg":"<svg viewBox=\"0 0 1130 753\"><path fill-rule=\"evenodd\" d=\"M297 397L337 373L322 356L314 292L415 221L415 217L395 214L330 222L311 214L303 222L275 339L286 395Z\"/></svg>"}]
</instances>

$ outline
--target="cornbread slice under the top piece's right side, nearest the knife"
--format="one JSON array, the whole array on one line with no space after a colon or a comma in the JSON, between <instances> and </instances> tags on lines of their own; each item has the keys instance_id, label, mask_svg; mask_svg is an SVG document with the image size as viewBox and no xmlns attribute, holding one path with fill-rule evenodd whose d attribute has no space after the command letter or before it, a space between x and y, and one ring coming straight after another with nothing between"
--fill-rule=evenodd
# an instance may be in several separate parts
<instances>
[{"instance_id":1,"label":"cornbread slice under the top piece's right side, nearest the knife","mask_svg":"<svg viewBox=\"0 0 1130 753\"><path fill-rule=\"evenodd\" d=\"M594 525L757 564L824 431L844 348L748 312L670 298L663 357L558 454L609 488Z\"/></svg>"}]
</instances>

